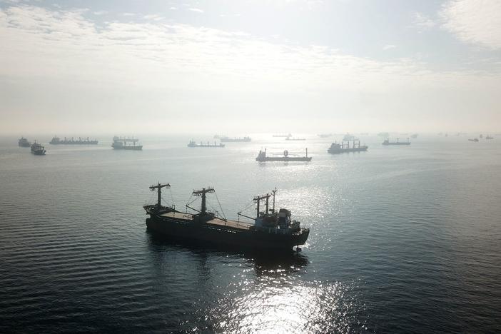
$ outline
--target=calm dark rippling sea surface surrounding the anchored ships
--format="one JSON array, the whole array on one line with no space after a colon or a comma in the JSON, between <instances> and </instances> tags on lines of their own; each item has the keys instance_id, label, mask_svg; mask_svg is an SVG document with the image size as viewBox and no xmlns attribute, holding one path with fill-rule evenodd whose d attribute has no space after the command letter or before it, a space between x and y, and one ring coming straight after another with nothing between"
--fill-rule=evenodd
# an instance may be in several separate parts
<instances>
[{"instance_id":1,"label":"calm dark rippling sea surface surrounding the anchored ships","mask_svg":"<svg viewBox=\"0 0 501 334\"><path fill-rule=\"evenodd\" d=\"M46 156L0 139L0 333L501 330L501 138L367 136L367 152L335 156L335 138L315 136L141 138L143 151L98 139ZM305 146L310 163L254 160ZM290 256L166 241L142 208L157 181L176 208L214 186L208 204L228 218L276 186L310 238Z\"/></svg>"}]
</instances>

